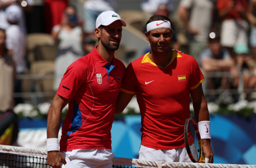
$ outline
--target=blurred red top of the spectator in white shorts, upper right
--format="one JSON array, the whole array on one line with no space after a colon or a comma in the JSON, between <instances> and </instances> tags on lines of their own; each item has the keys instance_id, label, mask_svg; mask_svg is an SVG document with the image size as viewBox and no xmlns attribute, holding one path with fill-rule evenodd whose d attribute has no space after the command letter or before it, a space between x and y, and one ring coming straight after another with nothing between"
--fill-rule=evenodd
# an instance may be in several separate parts
<instances>
[{"instance_id":1,"label":"blurred red top of the spectator in white shorts, upper right","mask_svg":"<svg viewBox=\"0 0 256 168\"><path fill-rule=\"evenodd\" d=\"M231 8L231 10L224 16L224 19L245 19L243 15L241 15L239 12L237 12L236 8L243 8L243 10L247 11L247 0L217 0L216 8L217 10L223 10L225 8L228 8L229 4L231 2L234 2L234 6Z\"/></svg>"}]
</instances>

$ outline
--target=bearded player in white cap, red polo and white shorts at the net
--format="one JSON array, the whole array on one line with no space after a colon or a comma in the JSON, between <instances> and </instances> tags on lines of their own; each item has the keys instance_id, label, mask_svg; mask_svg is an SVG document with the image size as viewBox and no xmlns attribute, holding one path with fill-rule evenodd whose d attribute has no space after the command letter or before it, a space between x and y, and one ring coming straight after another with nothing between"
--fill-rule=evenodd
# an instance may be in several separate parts
<instances>
[{"instance_id":1,"label":"bearded player in white cap, red polo and white shorts at the net","mask_svg":"<svg viewBox=\"0 0 256 168\"><path fill-rule=\"evenodd\" d=\"M116 98L125 72L114 57L126 23L114 11L96 20L98 45L72 63L53 98L47 120L47 164L60 168L111 168L111 127ZM69 109L62 126L60 150L58 131L61 110Z\"/></svg>"}]
</instances>

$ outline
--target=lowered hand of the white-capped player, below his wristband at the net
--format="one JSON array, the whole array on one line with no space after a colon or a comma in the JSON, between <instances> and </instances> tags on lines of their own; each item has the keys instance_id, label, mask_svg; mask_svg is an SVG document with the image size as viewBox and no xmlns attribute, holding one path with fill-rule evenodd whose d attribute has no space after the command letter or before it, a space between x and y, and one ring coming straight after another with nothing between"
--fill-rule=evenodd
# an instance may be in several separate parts
<instances>
[{"instance_id":1,"label":"lowered hand of the white-capped player, below his wristband at the net","mask_svg":"<svg viewBox=\"0 0 256 168\"><path fill-rule=\"evenodd\" d=\"M65 157L59 151L49 151L47 154L47 164L53 168L61 168L61 163L66 164Z\"/></svg>"}]
</instances>

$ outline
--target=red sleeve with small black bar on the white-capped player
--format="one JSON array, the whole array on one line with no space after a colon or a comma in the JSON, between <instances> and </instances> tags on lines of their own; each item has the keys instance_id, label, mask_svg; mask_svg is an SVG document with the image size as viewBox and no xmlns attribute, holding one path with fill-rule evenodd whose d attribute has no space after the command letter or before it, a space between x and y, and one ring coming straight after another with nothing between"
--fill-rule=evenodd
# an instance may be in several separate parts
<instances>
[{"instance_id":1,"label":"red sleeve with small black bar on the white-capped player","mask_svg":"<svg viewBox=\"0 0 256 168\"><path fill-rule=\"evenodd\" d=\"M56 94L71 100L80 85L86 82L86 74L84 67L77 65L75 61L67 68Z\"/></svg>"}]
</instances>

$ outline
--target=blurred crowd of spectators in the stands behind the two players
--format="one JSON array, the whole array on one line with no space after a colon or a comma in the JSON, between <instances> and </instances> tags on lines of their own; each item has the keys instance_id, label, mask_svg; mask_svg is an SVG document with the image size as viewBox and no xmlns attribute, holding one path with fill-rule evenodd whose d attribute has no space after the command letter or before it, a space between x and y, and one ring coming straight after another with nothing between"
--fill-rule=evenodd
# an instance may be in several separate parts
<instances>
[{"instance_id":1,"label":"blurred crowd of spectators in the stands behind the two players","mask_svg":"<svg viewBox=\"0 0 256 168\"><path fill-rule=\"evenodd\" d=\"M117 1L80 0L80 16L71 0L42 0L40 5L36 0L0 0L0 111L24 101L14 98L13 92L22 92L17 76L30 69L28 34L48 33L57 46L53 84L57 90L67 67L97 45L97 16L107 10L120 12ZM171 48L197 60L208 101L256 99L256 0L140 0L140 9L144 23L153 14L171 18ZM42 15L37 15L40 11ZM144 34L145 24L140 30ZM149 47L142 54L146 52Z\"/></svg>"}]
</instances>

